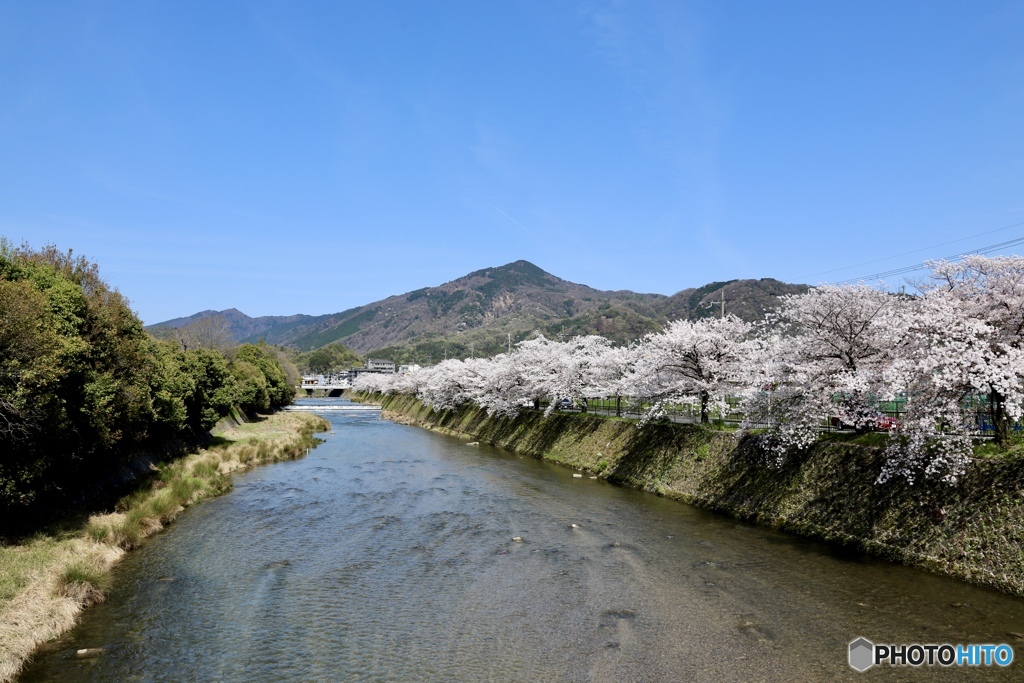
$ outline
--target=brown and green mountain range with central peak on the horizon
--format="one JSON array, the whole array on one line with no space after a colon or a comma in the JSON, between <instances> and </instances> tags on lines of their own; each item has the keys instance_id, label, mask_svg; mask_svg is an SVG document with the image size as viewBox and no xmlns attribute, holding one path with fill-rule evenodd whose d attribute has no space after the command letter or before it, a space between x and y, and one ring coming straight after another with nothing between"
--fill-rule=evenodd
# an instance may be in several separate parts
<instances>
[{"instance_id":1,"label":"brown and green mountain range with central peak on the horizon","mask_svg":"<svg viewBox=\"0 0 1024 683\"><path fill-rule=\"evenodd\" d=\"M151 330L166 332L221 315L240 342L263 339L310 350L341 341L364 354L436 362L445 355L495 353L510 336L515 342L535 331L550 337L600 334L622 343L660 330L670 319L720 314L723 293L726 312L761 319L779 296L806 290L805 285L762 279L712 283L672 296L609 292L515 261L340 313L249 317L233 308L206 310Z\"/></svg>"}]
</instances>

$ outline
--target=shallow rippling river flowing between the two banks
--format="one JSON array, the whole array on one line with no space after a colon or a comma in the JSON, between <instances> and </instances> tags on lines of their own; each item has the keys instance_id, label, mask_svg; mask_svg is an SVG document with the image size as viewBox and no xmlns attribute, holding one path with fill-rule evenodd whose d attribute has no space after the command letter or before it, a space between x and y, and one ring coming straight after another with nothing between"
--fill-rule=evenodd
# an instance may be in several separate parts
<instances>
[{"instance_id":1,"label":"shallow rippling river flowing between the two banks","mask_svg":"<svg viewBox=\"0 0 1024 683\"><path fill-rule=\"evenodd\" d=\"M19 680L1024 678L1020 599L374 413L325 417L306 458L237 475L130 553ZM1021 660L857 674L859 636Z\"/></svg>"}]
</instances>

